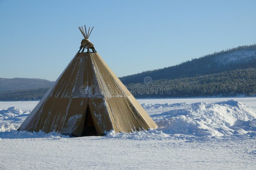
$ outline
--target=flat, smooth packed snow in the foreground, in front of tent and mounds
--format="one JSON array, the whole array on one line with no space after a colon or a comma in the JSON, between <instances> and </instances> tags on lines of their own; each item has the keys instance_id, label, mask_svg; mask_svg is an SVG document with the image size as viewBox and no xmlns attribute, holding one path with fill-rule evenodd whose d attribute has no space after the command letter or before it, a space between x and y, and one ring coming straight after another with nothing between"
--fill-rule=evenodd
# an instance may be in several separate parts
<instances>
[{"instance_id":1,"label":"flat, smooth packed snow in the foreground, in front of tent and mounds","mask_svg":"<svg viewBox=\"0 0 256 170\"><path fill-rule=\"evenodd\" d=\"M3 169L254 169L253 138L197 141L106 137L0 141Z\"/></svg>"}]
</instances>

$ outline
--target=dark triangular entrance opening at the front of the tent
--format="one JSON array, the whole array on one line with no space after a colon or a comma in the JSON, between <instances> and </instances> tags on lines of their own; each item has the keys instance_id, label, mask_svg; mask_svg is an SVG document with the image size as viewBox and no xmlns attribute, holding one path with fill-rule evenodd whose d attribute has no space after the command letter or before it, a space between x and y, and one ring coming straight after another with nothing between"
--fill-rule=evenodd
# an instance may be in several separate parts
<instances>
[{"instance_id":1,"label":"dark triangular entrance opening at the front of the tent","mask_svg":"<svg viewBox=\"0 0 256 170\"><path fill-rule=\"evenodd\" d=\"M89 105L87 105L85 119L84 119L84 128L81 136L98 136L98 133L95 129L95 126L92 120L92 115L91 115Z\"/></svg>"}]
</instances>

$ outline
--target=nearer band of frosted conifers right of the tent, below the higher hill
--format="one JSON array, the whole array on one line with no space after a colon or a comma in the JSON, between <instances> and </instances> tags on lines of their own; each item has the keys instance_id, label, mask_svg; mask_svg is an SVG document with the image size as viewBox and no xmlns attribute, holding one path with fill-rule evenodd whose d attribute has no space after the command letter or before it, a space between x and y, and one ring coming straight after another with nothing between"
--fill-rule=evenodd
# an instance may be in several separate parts
<instances>
[{"instance_id":1,"label":"nearer band of frosted conifers right of the tent, below the higher hill","mask_svg":"<svg viewBox=\"0 0 256 170\"><path fill-rule=\"evenodd\" d=\"M130 83L126 87L137 98L236 96L238 94L252 96L256 94L256 68L171 80L159 79L149 84Z\"/></svg>"}]
</instances>

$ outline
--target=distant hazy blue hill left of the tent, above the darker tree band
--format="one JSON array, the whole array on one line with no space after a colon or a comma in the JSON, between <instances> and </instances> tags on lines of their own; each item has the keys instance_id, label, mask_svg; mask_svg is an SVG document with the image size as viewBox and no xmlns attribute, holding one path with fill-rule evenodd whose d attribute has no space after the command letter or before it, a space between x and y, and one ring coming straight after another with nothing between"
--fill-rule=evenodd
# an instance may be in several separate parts
<instances>
[{"instance_id":1,"label":"distant hazy blue hill left of the tent, above the darker tree band","mask_svg":"<svg viewBox=\"0 0 256 170\"><path fill-rule=\"evenodd\" d=\"M0 91L49 88L53 84L54 81L44 79L0 78Z\"/></svg>"}]
</instances>

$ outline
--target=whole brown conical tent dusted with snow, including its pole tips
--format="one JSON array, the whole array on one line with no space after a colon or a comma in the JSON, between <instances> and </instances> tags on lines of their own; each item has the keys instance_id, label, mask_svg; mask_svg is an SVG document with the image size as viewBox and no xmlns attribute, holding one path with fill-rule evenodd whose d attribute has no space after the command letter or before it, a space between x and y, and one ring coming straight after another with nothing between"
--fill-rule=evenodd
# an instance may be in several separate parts
<instances>
[{"instance_id":1,"label":"whole brown conical tent dusted with snow, including its pole tips","mask_svg":"<svg viewBox=\"0 0 256 170\"><path fill-rule=\"evenodd\" d=\"M94 136L157 128L96 52L88 39L92 30L79 30L80 50L18 130Z\"/></svg>"}]
</instances>

